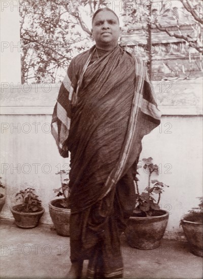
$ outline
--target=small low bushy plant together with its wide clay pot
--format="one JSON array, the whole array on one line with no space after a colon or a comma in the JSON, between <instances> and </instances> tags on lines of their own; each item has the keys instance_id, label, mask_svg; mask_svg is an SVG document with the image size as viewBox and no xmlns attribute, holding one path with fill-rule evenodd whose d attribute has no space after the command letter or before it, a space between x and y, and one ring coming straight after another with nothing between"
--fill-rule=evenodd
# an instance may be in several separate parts
<instances>
[{"instance_id":1,"label":"small low bushy plant together with its wide clay pot","mask_svg":"<svg viewBox=\"0 0 203 279\"><path fill-rule=\"evenodd\" d=\"M27 187L15 195L20 203L11 207L11 212L16 225L20 228L36 227L44 214L42 202L34 191L35 189Z\"/></svg>"}]
</instances>

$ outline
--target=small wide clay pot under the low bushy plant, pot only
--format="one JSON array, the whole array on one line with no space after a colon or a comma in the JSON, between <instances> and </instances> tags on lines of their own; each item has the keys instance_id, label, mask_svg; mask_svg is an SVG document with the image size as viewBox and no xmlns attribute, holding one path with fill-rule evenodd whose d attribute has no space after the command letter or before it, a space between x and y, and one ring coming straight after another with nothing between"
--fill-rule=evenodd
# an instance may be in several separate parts
<instances>
[{"instance_id":1,"label":"small wide clay pot under the low bushy plant, pot only","mask_svg":"<svg viewBox=\"0 0 203 279\"><path fill-rule=\"evenodd\" d=\"M41 207L39 212L34 212L34 213L26 213L26 212L19 212L17 211L18 208L20 208L22 204L14 205L11 208L11 212L13 214L13 217L15 219L15 223L18 227L20 228L35 228L42 215L44 214L44 208Z\"/></svg>"}]
</instances>

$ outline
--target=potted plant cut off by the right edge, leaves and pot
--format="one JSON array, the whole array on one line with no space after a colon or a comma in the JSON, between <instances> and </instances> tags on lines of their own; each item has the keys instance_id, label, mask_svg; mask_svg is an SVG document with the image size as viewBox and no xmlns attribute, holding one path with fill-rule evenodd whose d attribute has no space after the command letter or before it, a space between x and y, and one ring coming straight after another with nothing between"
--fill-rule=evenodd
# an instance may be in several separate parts
<instances>
[{"instance_id":1,"label":"potted plant cut off by the right edge, leaves and pot","mask_svg":"<svg viewBox=\"0 0 203 279\"><path fill-rule=\"evenodd\" d=\"M180 224L189 243L191 252L203 257L203 197L198 198L198 207L193 207L181 220Z\"/></svg>"}]
</instances>

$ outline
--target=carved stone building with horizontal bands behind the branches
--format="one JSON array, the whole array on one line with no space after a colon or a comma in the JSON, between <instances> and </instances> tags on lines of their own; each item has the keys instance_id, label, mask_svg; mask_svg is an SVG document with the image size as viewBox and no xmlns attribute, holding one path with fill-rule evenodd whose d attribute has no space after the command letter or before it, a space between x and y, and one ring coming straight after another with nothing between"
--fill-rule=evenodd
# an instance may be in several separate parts
<instances>
[{"instance_id":1,"label":"carved stone building with horizontal bands behind the branches","mask_svg":"<svg viewBox=\"0 0 203 279\"><path fill-rule=\"evenodd\" d=\"M179 14L179 28L175 19L167 21L160 19L159 22L170 33L181 32L184 36L191 37L192 41L195 32L194 23L181 13L181 9ZM169 36L165 31L158 30L155 25L152 25L151 34L152 80L195 78L202 75L201 54L189 47L186 41ZM147 59L146 31L141 24L131 26L130 29L129 26L124 27L120 41L129 52L141 56L144 60Z\"/></svg>"}]
</instances>

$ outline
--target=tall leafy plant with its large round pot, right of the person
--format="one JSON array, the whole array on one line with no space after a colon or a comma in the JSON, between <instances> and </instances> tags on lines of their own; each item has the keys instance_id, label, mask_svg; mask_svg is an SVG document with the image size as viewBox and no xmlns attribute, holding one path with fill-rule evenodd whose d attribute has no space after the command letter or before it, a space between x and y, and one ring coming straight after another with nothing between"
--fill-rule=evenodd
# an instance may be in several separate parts
<instances>
[{"instance_id":1,"label":"tall leafy plant with its large round pot, right of the person","mask_svg":"<svg viewBox=\"0 0 203 279\"><path fill-rule=\"evenodd\" d=\"M148 186L140 193L138 178L135 177L136 207L128 220L125 235L133 248L148 250L160 246L160 241L168 222L168 213L159 206L161 194L167 185L151 180L152 173L159 174L158 166L151 157L143 159L145 172L148 173ZM137 172L138 174L138 172ZM156 198L155 198L156 197Z\"/></svg>"}]
</instances>

